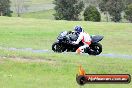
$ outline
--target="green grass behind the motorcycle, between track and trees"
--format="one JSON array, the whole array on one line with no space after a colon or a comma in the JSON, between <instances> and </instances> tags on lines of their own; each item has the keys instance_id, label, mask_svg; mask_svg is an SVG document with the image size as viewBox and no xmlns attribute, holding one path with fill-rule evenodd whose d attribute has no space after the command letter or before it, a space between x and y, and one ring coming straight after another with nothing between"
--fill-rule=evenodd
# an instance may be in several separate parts
<instances>
[{"instance_id":1,"label":"green grass behind the motorcycle, between track and trees","mask_svg":"<svg viewBox=\"0 0 132 88\"><path fill-rule=\"evenodd\" d=\"M57 35L81 25L90 34L103 35L104 53L131 54L131 23L99 23L87 21L54 21L45 19L1 17L0 45L2 47L51 49Z\"/></svg>"}]
</instances>

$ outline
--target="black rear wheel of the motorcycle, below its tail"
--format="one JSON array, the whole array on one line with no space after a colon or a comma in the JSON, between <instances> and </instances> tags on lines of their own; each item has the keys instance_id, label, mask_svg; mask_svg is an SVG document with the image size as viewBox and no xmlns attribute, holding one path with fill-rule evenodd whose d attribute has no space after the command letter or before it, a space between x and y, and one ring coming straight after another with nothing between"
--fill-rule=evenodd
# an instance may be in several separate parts
<instances>
[{"instance_id":1,"label":"black rear wheel of the motorcycle, below its tail","mask_svg":"<svg viewBox=\"0 0 132 88\"><path fill-rule=\"evenodd\" d=\"M93 43L89 47L89 55L99 55L102 52L102 45L100 43Z\"/></svg>"}]
</instances>

